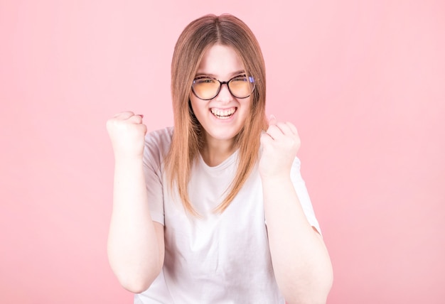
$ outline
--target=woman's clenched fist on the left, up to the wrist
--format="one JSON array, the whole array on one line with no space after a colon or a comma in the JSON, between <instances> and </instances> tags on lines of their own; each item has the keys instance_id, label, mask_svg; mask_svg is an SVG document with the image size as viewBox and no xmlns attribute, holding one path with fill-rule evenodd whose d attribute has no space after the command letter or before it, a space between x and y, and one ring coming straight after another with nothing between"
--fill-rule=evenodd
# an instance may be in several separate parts
<instances>
[{"instance_id":1,"label":"woman's clenched fist on the left, up to the wrist","mask_svg":"<svg viewBox=\"0 0 445 304\"><path fill-rule=\"evenodd\" d=\"M146 125L143 115L121 112L107 121L109 139L112 141L114 158L142 158Z\"/></svg>"}]
</instances>

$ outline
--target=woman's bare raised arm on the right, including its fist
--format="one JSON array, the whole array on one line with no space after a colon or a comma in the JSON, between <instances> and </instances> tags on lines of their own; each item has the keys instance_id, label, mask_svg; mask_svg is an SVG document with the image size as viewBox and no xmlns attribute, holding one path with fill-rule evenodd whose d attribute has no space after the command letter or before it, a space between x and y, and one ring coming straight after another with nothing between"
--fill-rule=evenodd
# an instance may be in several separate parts
<instances>
[{"instance_id":1,"label":"woman's bare raised arm on the right, including its fist","mask_svg":"<svg viewBox=\"0 0 445 304\"><path fill-rule=\"evenodd\" d=\"M289 304L326 303L333 281L331 260L321 235L306 219L290 178L300 146L296 128L273 118L261 141L264 212L279 289Z\"/></svg>"}]
</instances>

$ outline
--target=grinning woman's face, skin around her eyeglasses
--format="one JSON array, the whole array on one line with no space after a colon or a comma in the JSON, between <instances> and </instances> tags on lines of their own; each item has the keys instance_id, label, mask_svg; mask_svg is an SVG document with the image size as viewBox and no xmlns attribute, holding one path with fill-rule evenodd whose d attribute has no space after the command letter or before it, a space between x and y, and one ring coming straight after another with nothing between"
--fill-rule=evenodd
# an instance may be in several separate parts
<instances>
[{"instance_id":1,"label":"grinning woman's face, skin around her eyeglasses","mask_svg":"<svg viewBox=\"0 0 445 304\"><path fill-rule=\"evenodd\" d=\"M225 45L213 45L205 53L195 77L210 76L221 82L244 75L244 67L235 50ZM252 97L239 99L222 85L216 97L199 99L191 92L191 107L205 130L207 143L232 143L250 114Z\"/></svg>"}]
</instances>

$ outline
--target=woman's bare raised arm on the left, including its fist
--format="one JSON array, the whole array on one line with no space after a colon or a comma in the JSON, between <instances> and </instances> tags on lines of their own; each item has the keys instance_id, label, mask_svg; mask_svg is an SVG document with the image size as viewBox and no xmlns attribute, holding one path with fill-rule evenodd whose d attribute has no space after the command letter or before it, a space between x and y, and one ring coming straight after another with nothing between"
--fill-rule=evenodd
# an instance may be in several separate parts
<instances>
[{"instance_id":1,"label":"woman's bare raised arm on the left, including its fist","mask_svg":"<svg viewBox=\"0 0 445 304\"><path fill-rule=\"evenodd\" d=\"M150 216L142 156L146 126L132 112L107 121L114 150L113 210L109 227L109 264L124 288L141 293L163 265L163 225Z\"/></svg>"}]
</instances>

